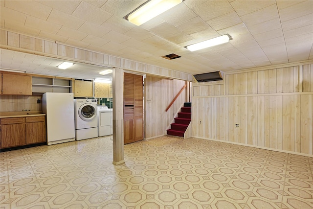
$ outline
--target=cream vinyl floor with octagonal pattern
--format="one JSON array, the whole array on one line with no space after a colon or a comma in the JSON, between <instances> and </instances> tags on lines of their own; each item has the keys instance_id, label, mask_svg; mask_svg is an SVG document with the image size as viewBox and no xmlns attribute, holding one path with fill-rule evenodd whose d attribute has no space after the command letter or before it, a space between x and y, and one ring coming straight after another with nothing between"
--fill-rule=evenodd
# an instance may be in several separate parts
<instances>
[{"instance_id":1,"label":"cream vinyl floor with octagonal pattern","mask_svg":"<svg viewBox=\"0 0 313 209\"><path fill-rule=\"evenodd\" d=\"M313 158L165 136L113 165L110 138L0 153L0 208L313 208Z\"/></svg>"}]
</instances>

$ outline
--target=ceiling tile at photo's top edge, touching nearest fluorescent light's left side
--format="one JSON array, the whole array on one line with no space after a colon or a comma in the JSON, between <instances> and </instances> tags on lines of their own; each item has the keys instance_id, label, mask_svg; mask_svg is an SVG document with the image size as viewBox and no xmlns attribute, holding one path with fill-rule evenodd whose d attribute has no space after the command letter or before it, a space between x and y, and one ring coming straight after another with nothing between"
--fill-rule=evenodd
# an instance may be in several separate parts
<instances>
[{"instance_id":1,"label":"ceiling tile at photo's top edge, touching nearest fluorescent light's left side","mask_svg":"<svg viewBox=\"0 0 313 209\"><path fill-rule=\"evenodd\" d=\"M140 4L133 0L108 0L101 6L101 9L123 18L138 6Z\"/></svg>"}]
</instances>

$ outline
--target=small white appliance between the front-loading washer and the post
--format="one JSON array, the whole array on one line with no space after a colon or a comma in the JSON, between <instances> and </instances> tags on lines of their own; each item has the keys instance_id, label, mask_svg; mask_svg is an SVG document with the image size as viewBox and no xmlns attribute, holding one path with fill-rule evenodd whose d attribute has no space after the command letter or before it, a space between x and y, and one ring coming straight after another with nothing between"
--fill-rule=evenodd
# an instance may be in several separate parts
<instances>
[{"instance_id":1,"label":"small white appliance between the front-loading washer and the post","mask_svg":"<svg viewBox=\"0 0 313 209\"><path fill-rule=\"evenodd\" d=\"M98 106L98 137L113 134L113 109Z\"/></svg>"}]
</instances>

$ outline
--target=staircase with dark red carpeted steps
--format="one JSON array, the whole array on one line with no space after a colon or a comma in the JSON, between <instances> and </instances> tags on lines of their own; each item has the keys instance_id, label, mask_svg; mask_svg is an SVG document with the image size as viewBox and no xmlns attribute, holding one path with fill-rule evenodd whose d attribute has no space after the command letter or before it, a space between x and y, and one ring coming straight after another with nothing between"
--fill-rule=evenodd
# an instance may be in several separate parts
<instances>
[{"instance_id":1,"label":"staircase with dark red carpeted steps","mask_svg":"<svg viewBox=\"0 0 313 209\"><path fill-rule=\"evenodd\" d=\"M175 123L171 124L171 129L167 130L167 135L183 137L191 121L191 102L185 102L178 117L175 117Z\"/></svg>"}]
</instances>

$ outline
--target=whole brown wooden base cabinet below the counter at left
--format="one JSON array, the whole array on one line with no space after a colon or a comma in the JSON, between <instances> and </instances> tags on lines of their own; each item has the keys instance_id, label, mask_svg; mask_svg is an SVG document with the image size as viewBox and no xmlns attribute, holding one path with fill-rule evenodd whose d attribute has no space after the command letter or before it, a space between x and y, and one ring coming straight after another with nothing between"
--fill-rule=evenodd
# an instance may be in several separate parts
<instances>
[{"instance_id":1,"label":"whole brown wooden base cabinet below the counter at left","mask_svg":"<svg viewBox=\"0 0 313 209\"><path fill-rule=\"evenodd\" d=\"M1 118L0 148L46 141L45 116Z\"/></svg>"}]
</instances>

